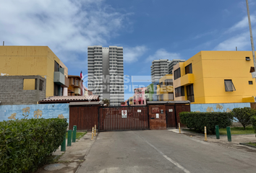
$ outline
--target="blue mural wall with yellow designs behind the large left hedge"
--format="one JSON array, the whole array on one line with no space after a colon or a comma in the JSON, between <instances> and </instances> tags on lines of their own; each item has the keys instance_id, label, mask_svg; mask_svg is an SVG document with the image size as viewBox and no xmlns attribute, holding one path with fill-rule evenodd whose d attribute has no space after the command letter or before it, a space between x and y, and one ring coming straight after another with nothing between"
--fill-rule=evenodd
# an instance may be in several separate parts
<instances>
[{"instance_id":1,"label":"blue mural wall with yellow designs behind the large left hedge","mask_svg":"<svg viewBox=\"0 0 256 173\"><path fill-rule=\"evenodd\" d=\"M69 123L69 104L39 104L39 105L0 105L0 121L27 118L67 118Z\"/></svg>"}]
</instances>

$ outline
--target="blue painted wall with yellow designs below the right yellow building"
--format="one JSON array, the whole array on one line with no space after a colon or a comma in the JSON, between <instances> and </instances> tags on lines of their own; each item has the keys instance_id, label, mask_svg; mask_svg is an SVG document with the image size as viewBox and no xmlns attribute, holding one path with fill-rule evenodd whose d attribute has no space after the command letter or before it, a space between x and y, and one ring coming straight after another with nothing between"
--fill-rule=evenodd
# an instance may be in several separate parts
<instances>
[{"instance_id":1,"label":"blue painted wall with yellow designs below the right yellow building","mask_svg":"<svg viewBox=\"0 0 256 173\"><path fill-rule=\"evenodd\" d=\"M191 112L230 112L236 107L251 107L250 103L191 104Z\"/></svg>"}]
</instances>

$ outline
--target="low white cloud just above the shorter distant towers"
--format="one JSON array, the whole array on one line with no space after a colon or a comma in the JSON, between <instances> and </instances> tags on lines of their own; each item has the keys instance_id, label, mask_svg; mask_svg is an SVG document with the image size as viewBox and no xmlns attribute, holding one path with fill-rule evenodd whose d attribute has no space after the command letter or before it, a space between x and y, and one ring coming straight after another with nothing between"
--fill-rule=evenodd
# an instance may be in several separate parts
<instances>
[{"instance_id":1,"label":"low white cloud just above the shorter distant towers","mask_svg":"<svg viewBox=\"0 0 256 173\"><path fill-rule=\"evenodd\" d=\"M168 53L165 49L158 49L153 56L149 56L147 61L159 60L159 59L182 59L179 53Z\"/></svg>"}]
</instances>

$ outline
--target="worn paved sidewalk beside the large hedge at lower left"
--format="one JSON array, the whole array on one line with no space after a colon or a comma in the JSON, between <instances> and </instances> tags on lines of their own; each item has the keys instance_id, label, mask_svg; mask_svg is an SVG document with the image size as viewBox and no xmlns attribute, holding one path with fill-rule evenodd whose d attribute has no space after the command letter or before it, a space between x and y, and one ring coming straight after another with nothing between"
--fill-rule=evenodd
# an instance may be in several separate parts
<instances>
[{"instance_id":1,"label":"worn paved sidewalk beside the large hedge at lower left","mask_svg":"<svg viewBox=\"0 0 256 173\"><path fill-rule=\"evenodd\" d=\"M96 133L98 135L98 133ZM38 169L35 173L67 173L76 172L80 164L85 161L85 155L88 154L90 147L93 145L97 136L94 136L94 140L91 141L92 133L86 133L85 136L80 138L80 140L72 143L72 146L67 146L66 141L66 151L61 151L61 147L54 152L53 155L62 156L59 158L58 163L49 164Z\"/></svg>"}]
</instances>

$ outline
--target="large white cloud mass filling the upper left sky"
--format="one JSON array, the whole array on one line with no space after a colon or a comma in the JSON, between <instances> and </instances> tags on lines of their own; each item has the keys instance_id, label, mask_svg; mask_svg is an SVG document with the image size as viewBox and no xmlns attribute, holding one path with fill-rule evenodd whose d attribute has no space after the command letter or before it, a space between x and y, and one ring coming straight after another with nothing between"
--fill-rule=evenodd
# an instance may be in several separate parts
<instances>
[{"instance_id":1,"label":"large white cloud mass filling the upper left sky","mask_svg":"<svg viewBox=\"0 0 256 173\"><path fill-rule=\"evenodd\" d=\"M102 0L1 1L1 39L6 45L48 45L67 66L86 66L88 45L106 45L129 25L127 16ZM72 61L70 61L72 59ZM82 59L83 61L84 59Z\"/></svg>"}]
</instances>

